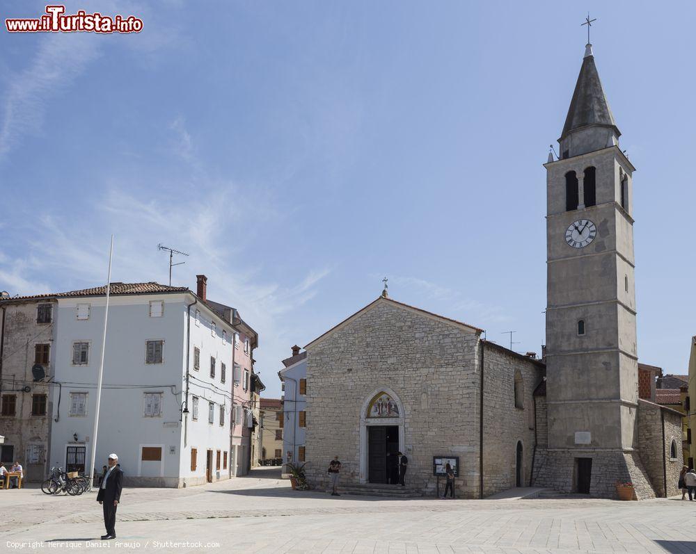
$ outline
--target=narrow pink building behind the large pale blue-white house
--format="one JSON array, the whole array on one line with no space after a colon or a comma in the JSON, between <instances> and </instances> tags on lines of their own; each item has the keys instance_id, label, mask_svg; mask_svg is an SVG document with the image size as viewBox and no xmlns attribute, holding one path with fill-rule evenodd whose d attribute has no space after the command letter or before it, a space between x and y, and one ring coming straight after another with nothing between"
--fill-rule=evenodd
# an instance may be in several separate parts
<instances>
[{"instance_id":1,"label":"narrow pink building behind the large pale blue-white house","mask_svg":"<svg viewBox=\"0 0 696 554\"><path fill-rule=\"evenodd\" d=\"M239 315L237 309L206 298L207 277L197 275L198 297L214 311L221 313L232 327L235 335L231 337L232 349L232 422L230 437L230 473L233 477L246 475L251 469L253 427L258 422L254 418L253 405L253 350L258 347L258 333Z\"/></svg>"}]
</instances>

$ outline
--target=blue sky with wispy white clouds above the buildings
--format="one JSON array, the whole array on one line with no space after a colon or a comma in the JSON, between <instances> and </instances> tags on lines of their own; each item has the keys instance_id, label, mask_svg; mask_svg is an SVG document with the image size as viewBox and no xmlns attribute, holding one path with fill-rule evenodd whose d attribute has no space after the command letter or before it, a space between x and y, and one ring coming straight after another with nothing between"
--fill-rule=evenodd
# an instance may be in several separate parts
<instances>
[{"instance_id":1,"label":"blue sky with wispy white clouds above the buildings","mask_svg":"<svg viewBox=\"0 0 696 554\"><path fill-rule=\"evenodd\" d=\"M4 1L38 17L45 3ZM587 10L633 175L640 361L696 334L696 4L83 1L127 35L0 32L0 290L168 282L239 309L255 368L390 297L541 352L546 162ZM692 162L689 162L692 160Z\"/></svg>"}]
</instances>

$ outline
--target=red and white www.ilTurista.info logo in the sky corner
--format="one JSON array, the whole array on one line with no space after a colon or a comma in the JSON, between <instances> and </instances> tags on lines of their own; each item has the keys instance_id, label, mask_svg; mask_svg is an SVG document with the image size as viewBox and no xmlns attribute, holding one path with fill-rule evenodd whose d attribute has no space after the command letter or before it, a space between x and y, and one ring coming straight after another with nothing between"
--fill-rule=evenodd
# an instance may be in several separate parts
<instances>
[{"instance_id":1,"label":"red and white www.ilTurista.info logo in the sky corner","mask_svg":"<svg viewBox=\"0 0 696 554\"><path fill-rule=\"evenodd\" d=\"M36 19L5 19L10 33L140 33L143 20L134 15L102 15L77 10L65 15L65 6L46 6L46 14Z\"/></svg>"}]
</instances>

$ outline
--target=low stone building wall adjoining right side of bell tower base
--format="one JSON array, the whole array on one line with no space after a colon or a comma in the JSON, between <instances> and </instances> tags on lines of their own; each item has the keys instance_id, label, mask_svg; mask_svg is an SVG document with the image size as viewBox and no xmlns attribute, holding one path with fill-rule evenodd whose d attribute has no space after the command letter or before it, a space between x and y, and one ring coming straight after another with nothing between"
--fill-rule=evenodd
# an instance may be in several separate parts
<instances>
[{"instance_id":1,"label":"low stone building wall adjoining right side of bell tower base","mask_svg":"<svg viewBox=\"0 0 696 554\"><path fill-rule=\"evenodd\" d=\"M664 435L663 435L664 425ZM657 496L679 494L677 483L683 466L681 448L681 414L653 402L638 402L637 441L640 457ZM664 439L663 439L664 437ZM672 441L677 445L676 457L671 457ZM665 481L667 491L665 494Z\"/></svg>"}]
</instances>

